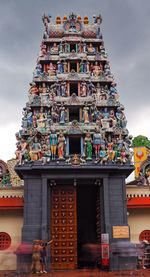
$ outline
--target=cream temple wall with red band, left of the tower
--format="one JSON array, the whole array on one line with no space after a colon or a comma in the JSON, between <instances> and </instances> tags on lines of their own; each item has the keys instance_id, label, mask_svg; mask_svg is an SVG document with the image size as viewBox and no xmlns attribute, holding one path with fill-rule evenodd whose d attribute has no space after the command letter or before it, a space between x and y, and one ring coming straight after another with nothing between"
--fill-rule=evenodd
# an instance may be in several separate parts
<instances>
[{"instance_id":1,"label":"cream temple wall with red band, left of the tower","mask_svg":"<svg viewBox=\"0 0 150 277\"><path fill-rule=\"evenodd\" d=\"M0 265L16 270L15 251L21 243L23 226L23 181L14 171L15 159L0 160Z\"/></svg>"}]
</instances>

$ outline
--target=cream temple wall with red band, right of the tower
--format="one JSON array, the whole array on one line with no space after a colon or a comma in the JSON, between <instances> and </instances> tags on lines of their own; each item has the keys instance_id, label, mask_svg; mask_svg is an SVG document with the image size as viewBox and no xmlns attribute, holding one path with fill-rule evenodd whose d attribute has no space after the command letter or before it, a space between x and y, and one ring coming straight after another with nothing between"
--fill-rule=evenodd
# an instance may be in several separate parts
<instances>
[{"instance_id":1,"label":"cream temple wall with red band, right of the tower","mask_svg":"<svg viewBox=\"0 0 150 277\"><path fill-rule=\"evenodd\" d=\"M128 223L134 243L150 243L150 141L145 136L133 139L135 179L127 184ZM147 259L146 266L150 266Z\"/></svg>"}]
</instances>

